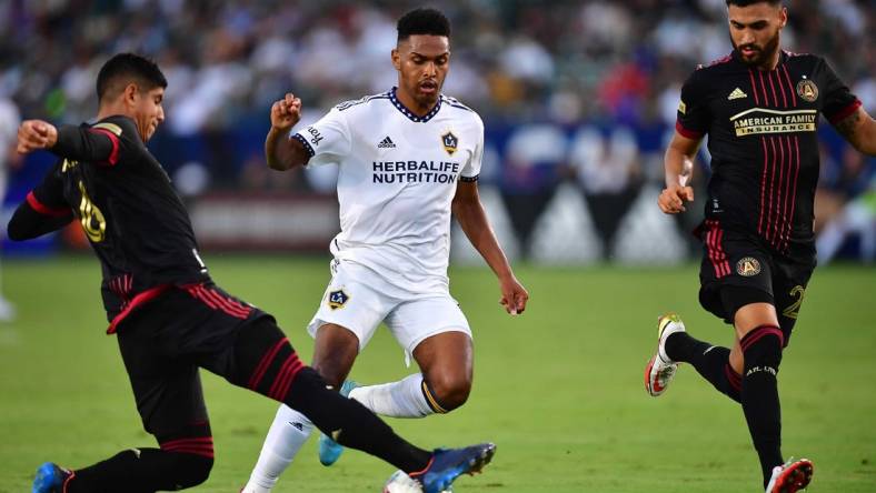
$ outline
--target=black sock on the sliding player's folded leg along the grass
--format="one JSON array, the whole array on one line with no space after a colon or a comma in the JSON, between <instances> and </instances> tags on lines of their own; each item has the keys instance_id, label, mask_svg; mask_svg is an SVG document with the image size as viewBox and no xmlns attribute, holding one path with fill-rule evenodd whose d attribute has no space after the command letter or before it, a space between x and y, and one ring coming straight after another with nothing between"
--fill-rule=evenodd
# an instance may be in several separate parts
<instances>
[{"instance_id":1,"label":"black sock on the sliding player's folded leg along the grass","mask_svg":"<svg viewBox=\"0 0 876 493\"><path fill-rule=\"evenodd\" d=\"M198 485L212 457L159 449L131 449L73 472L66 493L155 493Z\"/></svg>"}]
</instances>

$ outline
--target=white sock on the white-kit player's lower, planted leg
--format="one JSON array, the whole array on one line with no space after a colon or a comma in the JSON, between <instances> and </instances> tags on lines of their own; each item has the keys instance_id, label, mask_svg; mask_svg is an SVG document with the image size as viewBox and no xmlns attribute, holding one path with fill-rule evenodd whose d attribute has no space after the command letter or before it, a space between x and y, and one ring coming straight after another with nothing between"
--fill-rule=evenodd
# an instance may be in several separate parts
<instances>
[{"instance_id":1,"label":"white sock on the white-kit player's lower, planted leg","mask_svg":"<svg viewBox=\"0 0 876 493\"><path fill-rule=\"evenodd\" d=\"M261 445L259 460L241 493L269 493L312 431L313 423L307 416L281 404L271 429L268 430L265 444Z\"/></svg>"}]
</instances>

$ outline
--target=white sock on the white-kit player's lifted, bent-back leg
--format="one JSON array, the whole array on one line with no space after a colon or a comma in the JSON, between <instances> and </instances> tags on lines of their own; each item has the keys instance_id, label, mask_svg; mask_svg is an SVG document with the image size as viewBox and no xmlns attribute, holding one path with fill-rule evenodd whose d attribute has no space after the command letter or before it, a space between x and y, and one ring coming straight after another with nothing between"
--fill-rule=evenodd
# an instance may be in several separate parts
<instances>
[{"instance_id":1,"label":"white sock on the white-kit player's lifted, bent-back leg","mask_svg":"<svg viewBox=\"0 0 876 493\"><path fill-rule=\"evenodd\" d=\"M422 374L415 373L398 382L357 386L350 392L362 405L391 417L424 417L435 414L422 395Z\"/></svg>"}]
</instances>

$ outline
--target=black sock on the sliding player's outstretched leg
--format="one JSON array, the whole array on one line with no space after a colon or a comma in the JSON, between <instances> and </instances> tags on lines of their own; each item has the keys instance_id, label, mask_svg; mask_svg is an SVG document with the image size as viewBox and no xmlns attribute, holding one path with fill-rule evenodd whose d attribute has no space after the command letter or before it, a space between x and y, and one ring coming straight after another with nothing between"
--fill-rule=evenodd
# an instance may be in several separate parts
<instances>
[{"instance_id":1,"label":"black sock on the sliding player's outstretched leg","mask_svg":"<svg viewBox=\"0 0 876 493\"><path fill-rule=\"evenodd\" d=\"M359 402L326 389L309 366L296 375L286 404L341 445L376 455L406 473L426 469L431 460L430 452L406 442Z\"/></svg>"}]
</instances>

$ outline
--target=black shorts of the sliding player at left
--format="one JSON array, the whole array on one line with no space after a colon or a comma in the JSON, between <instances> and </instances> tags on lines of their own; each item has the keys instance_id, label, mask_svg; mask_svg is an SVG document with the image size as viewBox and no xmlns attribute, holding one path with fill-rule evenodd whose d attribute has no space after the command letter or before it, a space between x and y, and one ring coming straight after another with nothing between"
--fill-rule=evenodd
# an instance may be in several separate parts
<instances>
[{"instance_id":1,"label":"black shorts of the sliding player at left","mask_svg":"<svg viewBox=\"0 0 876 493\"><path fill-rule=\"evenodd\" d=\"M230 380L238 334L260 325L277 338L270 315L211 283L171 288L132 311L118 339L146 431L161 441L208 424L198 368Z\"/></svg>"}]
</instances>

